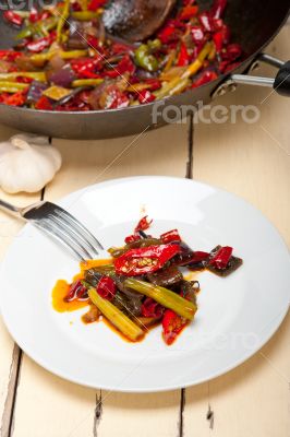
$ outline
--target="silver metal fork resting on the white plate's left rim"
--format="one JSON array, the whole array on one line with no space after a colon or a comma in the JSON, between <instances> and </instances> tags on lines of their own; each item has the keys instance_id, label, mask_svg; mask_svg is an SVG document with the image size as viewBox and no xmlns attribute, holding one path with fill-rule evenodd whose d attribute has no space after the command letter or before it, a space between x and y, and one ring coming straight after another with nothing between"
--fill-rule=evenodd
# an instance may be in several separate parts
<instances>
[{"instance_id":1,"label":"silver metal fork resting on the white plate's left rim","mask_svg":"<svg viewBox=\"0 0 290 437\"><path fill-rule=\"evenodd\" d=\"M99 250L104 250L97 238L78 220L55 203L41 201L19 208L0 199L0 208L44 231L77 260L94 259Z\"/></svg>"}]
</instances>

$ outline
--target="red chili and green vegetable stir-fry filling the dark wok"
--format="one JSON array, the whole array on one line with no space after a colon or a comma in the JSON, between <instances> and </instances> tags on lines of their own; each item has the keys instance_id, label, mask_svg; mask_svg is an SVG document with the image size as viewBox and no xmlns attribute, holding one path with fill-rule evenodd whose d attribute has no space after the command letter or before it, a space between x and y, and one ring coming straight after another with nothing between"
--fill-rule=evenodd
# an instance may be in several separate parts
<instances>
[{"instance_id":1,"label":"red chili and green vegetable stir-fry filling the dark wok","mask_svg":"<svg viewBox=\"0 0 290 437\"><path fill-rule=\"evenodd\" d=\"M135 3L142 11L147 4ZM222 20L227 0L214 0L209 10L195 0L157 5L155 15L152 3L144 14L131 11L126 26L119 19L132 9L129 0L64 0L3 12L20 32L14 47L0 51L0 103L61 111L124 108L195 88L240 63L242 49Z\"/></svg>"}]
</instances>

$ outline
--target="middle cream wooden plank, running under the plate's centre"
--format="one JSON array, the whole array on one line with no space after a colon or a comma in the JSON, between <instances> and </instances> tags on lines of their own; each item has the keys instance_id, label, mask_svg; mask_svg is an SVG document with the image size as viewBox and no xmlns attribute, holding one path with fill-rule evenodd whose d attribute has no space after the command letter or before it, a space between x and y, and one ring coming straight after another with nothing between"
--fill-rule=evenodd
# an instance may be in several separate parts
<instances>
[{"instance_id":1,"label":"middle cream wooden plank, running under the plate's centre","mask_svg":"<svg viewBox=\"0 0 290 437\"><path fill-rule=\"evenodd\" d=\"M155 174L184 177L186 172L185 125L137 139L53 143L62 153L63 167L46 190L49 200L108 178ZM13 437L107 437L117 433L120 437L156 433L176 437L179 416L180 390L144 395L95 392L55 377L24 356Z\"/></svg>"}]
</instances>

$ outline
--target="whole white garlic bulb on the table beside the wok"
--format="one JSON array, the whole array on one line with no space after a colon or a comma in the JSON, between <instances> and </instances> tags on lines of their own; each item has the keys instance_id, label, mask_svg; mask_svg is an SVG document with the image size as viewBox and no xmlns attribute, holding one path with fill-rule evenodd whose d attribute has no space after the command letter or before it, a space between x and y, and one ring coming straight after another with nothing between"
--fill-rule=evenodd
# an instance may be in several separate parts
<instances>
[{"instance_id":1,"label":"whole white garlic bulb on the table beside the wok","mask_svg":"<svg viewBox=\"0 0 290 437\"><path fill-rule=\"evenodd\" d=\"M17 134L0 143L0 187L9 192L37 192L61 166L59 151L48 138Z\"/></svg>"}]
</instances>

